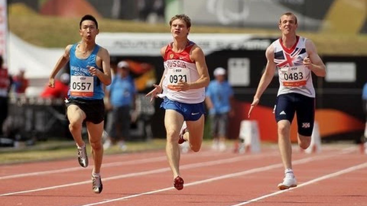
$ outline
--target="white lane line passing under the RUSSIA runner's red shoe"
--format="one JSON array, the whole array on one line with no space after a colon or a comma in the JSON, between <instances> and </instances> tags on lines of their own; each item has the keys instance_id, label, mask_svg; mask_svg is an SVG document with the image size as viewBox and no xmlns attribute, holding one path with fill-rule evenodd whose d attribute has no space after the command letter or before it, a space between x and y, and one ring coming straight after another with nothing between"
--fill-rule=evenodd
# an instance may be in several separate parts
<instances>
[{"instance_id":1,"label":"white lane line passing under the RUSSIA runner's red shoe","mask_svg":"<svg viewBox=\"0 0 367 206\"><path fill-rule=\"evenodd\" d=\"M355 151L355 147L350 147L350 148L346 148L346 149L342 150L342 152L340 152L339 154L346 154L346 153L353 152L353 151ZM306 162L311 162L311 161L314 161L314 160L317 160L317 159L325 159L325 158L328 158L328 157L333 157L335 155L337 155L337 154L330 154L330 155L324 155L324 156L319 156L319 157L307 157L307 158L303 158L303 159L299 159L299 160L294 161L293 165L298 165L298 164L302 164L302 163L306 163ZM192 186L192 185L197 185L197 184L208 183L208 182L216 181L216 180L227 179L227 178L231 178L231 177L242 176L242 175L245 175L245 174L251 174L251 173L256 173L256 172L264 172L266 170L281 168L281 167L283 167L283 164L281 164L281 163L273 164L273 165L264 166L264 167L260 167L260 168L245 170L243 172L230 173L230 174L225 174L225 175L218 176L218 177L213 177L213 178L209 178L209 179L205 179L205 180L200 180L200 181L187 183L187 184L185 184L185 187ZM154 194L154 193L163 192L163 191L172 190L172 189L174 189L174 187L167 187L167 188L163 188L163 189L160 189L160 190L153 190L153 191L143 192L143 193L140 193L140 194L124 196L124 197L121 197L121 198L115 198L115 199L110 199L110 200L101 201L101 202L90 203L90 204L86 204L86 205L82 205L82 206L100 205L100 204L109 203L109 202L116 202L116 201L120 201L120 200L123 200L123 199L129 199L129 198L134 198L134 197L138 197L138 196L142 196L142 195Z\"/></svg>"}]
</instances>

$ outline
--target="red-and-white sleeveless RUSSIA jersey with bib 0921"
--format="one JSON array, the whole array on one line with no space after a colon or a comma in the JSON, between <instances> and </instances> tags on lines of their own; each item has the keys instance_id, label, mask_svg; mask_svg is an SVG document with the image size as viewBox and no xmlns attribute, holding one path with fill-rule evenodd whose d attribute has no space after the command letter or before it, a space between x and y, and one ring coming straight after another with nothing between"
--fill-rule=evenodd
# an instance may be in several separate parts
<instances>
[{"instance_id":1,"label":"red-and-white sleeveless RUSSIA jersey with bib 0921","mask_svg":"<svg viewBox=\"0 0 367 206\"><path fill-rule=\"evenodd\" d=\"M205 88L189 89L188 91L175 91L172 85L180 80L195 82L199 79L199 73L195 62L190 59L190 51L195 45L189 41L185 50L180 53L172 51L172 43L167 45L164 54L163 95L168 99L181 103L200 103L205 99Z\"/></svg>"}]
</instances>

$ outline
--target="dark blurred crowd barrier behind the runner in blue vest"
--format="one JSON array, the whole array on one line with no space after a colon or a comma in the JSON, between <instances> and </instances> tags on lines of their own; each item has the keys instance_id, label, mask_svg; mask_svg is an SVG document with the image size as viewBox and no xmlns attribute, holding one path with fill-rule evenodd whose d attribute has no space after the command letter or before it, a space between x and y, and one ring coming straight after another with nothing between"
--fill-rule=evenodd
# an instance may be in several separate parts
<instances>
[{"instance_id":1,"label":"dark blurred crowd barrier behind the runner in blue vest","mask_svg":"<svg viewBox=\"0 0 367 206\"><path fill-rule=\"evenodd\" d=\"M154 106L145 98L137 95L136 121L131 124L130 140L148 140L152 138L150 121L155 112ZM49 139L72 140L66 108L62 99L44 99L39 97L11 97L9 112L0 137L0 147L30 146L36 141ZM83 137L87 138L85 125Z\"/></svg>"}]
</instances>

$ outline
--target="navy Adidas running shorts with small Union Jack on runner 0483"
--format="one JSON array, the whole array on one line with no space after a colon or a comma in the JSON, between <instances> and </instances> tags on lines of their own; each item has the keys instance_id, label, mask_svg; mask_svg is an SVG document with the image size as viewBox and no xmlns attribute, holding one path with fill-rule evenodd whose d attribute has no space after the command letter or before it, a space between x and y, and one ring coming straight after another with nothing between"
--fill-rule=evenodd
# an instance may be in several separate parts
<instances>
[{"instance_id":1,"label":"navy Adidas running shorts with small Union Jack on runner 0483","mask_svg":"<svg viewBox=\"0 0 367 206\"><path fill-rule=\"evenodd\" d=\"M275 119L292 122L297 114L298 133L311 136L315 121L315 98L299 93L286 93L277 96L275 104Z\"/></svg>"}]
</instances>

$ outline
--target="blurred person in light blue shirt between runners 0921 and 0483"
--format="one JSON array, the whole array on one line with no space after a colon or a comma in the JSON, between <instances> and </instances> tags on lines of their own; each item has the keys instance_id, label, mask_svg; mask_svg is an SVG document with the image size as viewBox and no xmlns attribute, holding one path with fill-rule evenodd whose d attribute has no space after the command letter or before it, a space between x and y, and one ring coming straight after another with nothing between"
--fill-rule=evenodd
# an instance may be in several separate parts
<instances>
[{"instance_id":1,"label":"blurred person in light blue shirt between runners 0921 and 0483","mask_svg":"<svg viewBox=\"0 0 367 206\"><path fill-rule=\"evenodd\" d=\"M211 120L212 149L219 151L226 149L228 118L233 115L233 89L225 75L226 70L222 67L214 70L215 80L210 81L205 98Z\"/></svg>"}]
</instances>

